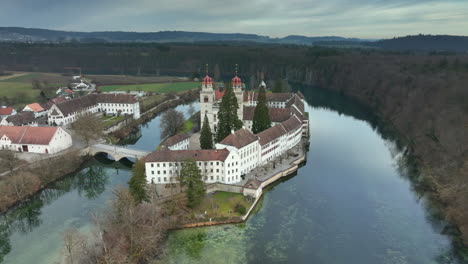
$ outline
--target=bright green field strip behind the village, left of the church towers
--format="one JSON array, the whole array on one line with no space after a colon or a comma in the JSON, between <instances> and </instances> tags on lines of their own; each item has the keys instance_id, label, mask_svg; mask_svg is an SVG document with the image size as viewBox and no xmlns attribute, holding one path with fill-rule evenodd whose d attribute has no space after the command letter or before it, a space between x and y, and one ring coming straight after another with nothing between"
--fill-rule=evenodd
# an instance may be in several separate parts
<instances>
[{"instance_id":1,"label":"bright green field strip behind the village, left of the church towers","mask_svg":"<svg viewBox=\"0 0 468 264\"><path fill-rule=\"evenodd\" d=\"M183 92L197 88L198 82L148 83L132 85L106 85L99 89L103 92L111 91L144 91L154 93Z\"/></svg>"}]
</instances>

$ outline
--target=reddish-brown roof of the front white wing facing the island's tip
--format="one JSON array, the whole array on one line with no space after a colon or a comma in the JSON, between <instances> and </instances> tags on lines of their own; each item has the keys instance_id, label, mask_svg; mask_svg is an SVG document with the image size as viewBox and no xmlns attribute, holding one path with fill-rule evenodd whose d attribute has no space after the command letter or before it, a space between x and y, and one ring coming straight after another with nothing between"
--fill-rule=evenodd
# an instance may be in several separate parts
<instances>
[{"instance_id":1,"label":"reddish-brown roof of the front white wing facing the island's tip","mask_svg":"<svg viewBox=\"0 0 468 264\"><path fill-rule=\"evenodd\" d=\"M200 150L160 150L154 151L145 157L146 162L186 161L225 161L229 156L227 149L200 149Z\"/></svg>"}]
</instances>

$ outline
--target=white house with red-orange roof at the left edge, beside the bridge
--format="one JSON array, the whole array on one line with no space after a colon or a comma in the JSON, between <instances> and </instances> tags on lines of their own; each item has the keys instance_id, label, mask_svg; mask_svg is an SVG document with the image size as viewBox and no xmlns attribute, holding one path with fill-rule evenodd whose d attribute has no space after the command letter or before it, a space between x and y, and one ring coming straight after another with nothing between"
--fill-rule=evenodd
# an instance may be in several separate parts
<instances>
[{"instance_id":1,"label":"white house with red-orange roof at the left edge, beside the bridge","mask_svg":"<svg viewBox=\"0 0 468 264\"><path fill-rule=\"evenodd\" d=\"M60 127L0 126L0 149L54 154L72 146L69 133Z\"/></svg>"}]
</instances>

